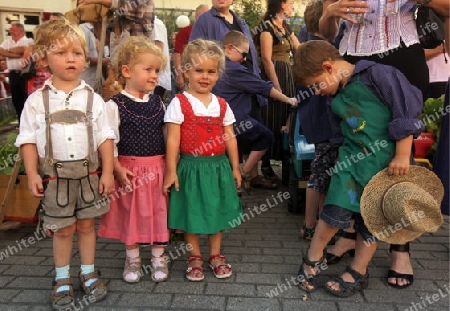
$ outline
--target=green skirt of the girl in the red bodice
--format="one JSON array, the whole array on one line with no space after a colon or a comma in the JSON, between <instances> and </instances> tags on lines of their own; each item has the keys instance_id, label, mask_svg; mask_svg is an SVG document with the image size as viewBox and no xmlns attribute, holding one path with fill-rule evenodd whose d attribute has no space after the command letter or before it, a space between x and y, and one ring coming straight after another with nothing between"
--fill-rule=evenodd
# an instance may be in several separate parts
<instances>
[{"instance_id":1,"label":"green skirt of the girl in the red bodice","mask_svg":"<svg viewBox=\"0 0 450 311\"><path fill-rule=\"evenodd\" d=\"M225 154L182 154L177 174L180 191L171 189L169 228L215 234L240 224L242 205Z\"/></svg>"}]
</instances>

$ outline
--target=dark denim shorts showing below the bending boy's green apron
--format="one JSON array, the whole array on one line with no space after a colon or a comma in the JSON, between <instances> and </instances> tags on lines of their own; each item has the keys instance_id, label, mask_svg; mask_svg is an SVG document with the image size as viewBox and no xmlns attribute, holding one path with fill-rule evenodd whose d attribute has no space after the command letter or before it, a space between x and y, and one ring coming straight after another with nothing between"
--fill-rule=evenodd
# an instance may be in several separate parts
<instances>
[{"instance_id":1,"label":"dark denim shorts showing below the bending boy's green apron","mask_svg":"<svg viewBox=\"0 0 450 311\"><path fill-rule=\"evenodd\" d=\"M378 239L369 232L360 213L352 212L337 205L327 204L323 207L320 219L328 225L338 229L348 229L355 220L355 231L361 234L364 241L378 242Z\"/></svg>"}]
</instances>

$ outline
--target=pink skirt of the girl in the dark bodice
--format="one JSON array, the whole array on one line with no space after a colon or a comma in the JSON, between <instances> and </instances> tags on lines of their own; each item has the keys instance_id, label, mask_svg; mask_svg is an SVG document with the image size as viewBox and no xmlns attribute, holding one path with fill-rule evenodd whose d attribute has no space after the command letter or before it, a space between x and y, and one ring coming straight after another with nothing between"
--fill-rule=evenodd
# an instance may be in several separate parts
<instances>
[{"instance_id":1,"label":"pink skirt of the girl in the dark bodice","mask_svg":"<svg viewBox=\"0 0 450 311\"><path fill-rule=\"evenodd\" d=\"M167 198L163 195L166 171L163 156L119 156L120 164L135 175L132 190L121 189L111 194L111 209L102 216L98 235L135 243L167 244ZM120 190L119 190L120 189Z\"/></svg>"}]
</instances>

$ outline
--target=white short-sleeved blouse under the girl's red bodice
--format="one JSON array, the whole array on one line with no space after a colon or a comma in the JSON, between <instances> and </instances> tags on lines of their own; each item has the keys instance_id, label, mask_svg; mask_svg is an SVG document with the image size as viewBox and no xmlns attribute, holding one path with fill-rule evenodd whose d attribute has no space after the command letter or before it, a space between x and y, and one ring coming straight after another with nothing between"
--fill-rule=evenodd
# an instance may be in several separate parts
<instances>
[{"instance_id":1,"label":"white short-sleeved blouse under the girl's red bodice","mask_svg":"<svg viewBox=\"0 0 450 311\"><path fill-rule=\"evenodd\" d=\"M193 95L187 92L183 92L183 94L188 98L192 110L194 111L194 114L196 116L218 117L220 115L220 105L216 95L212 94L211 103L208 105L208 107L205 107L205 105ZM169 106L167 107L167 111L164 116L164 122L176 124L181 124L184 122L184 115L181 112L180 101L177 97L172 99ZM227 110L223 117L223 126L231 125L234 122L236 122L236 119L234 117L233 111L227 103Z\"/></svg>"}]
</instances>

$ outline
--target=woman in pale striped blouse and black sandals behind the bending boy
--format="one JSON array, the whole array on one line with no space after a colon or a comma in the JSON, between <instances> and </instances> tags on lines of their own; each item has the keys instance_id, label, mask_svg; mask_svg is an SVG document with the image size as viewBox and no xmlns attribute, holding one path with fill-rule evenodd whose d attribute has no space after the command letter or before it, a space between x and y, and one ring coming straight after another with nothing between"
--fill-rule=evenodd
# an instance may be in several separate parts
<instances>
[{"instance_id":1,"label":"woman in pale striped blouse and black sandals behind the bending boy","mask_svg":"<svg viewBox=\"0 0 450 311\"><path fill-rule=\"evenodd\" d=\"M386 2L387 0L325 0L319 22L320 33L328 40L333 40L343 20L345 30L339 52L347 61L355 63L367 59L394 66L424 93L429 77L414 20L417 2L396 0L393 3L397 10L390 12L386 10ZM354 243L351 239L340 239L330 252L339 257ZM409 244L391 245L390 252L392 262L388 284L397 288L411 285L413 269Z\"/></svg>"}]
</instances>

